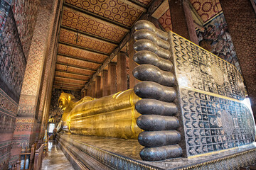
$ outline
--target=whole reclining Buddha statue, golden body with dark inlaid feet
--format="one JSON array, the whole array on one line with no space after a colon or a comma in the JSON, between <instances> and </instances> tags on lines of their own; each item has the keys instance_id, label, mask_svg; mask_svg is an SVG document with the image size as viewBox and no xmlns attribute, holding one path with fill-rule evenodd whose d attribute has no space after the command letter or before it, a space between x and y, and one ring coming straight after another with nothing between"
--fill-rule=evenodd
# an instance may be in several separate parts
<instances>
[{"instance_id":1,"label":"whole reclining Buddha statue, golden body with dark inlaid feet","mask_svg":"<svg viewBox=\"0 0 256 170\"><path fill-rule=\"evenodd\" d=\"M254 145L255 119L233 64L149 21L137 21L134 30L139 83L97 99L61 94L66 132L137 139L144 161Z\"/></svg>"}]
</instances>

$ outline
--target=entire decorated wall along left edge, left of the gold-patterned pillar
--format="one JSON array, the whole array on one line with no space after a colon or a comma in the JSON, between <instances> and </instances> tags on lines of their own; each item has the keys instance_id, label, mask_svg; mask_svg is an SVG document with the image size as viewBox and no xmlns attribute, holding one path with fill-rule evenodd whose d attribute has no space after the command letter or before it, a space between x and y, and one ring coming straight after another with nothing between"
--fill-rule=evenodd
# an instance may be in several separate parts
<instances>
[{"instance_id":1,"label":"entire decorated wall along left edge, left of the gold-patterned pillar","mask_svg":"<svg viewBox=\"0 0 256 170\"><path fill-rule=\"evenodd\" d=\"M37 6L38 0L0 1L0 169L8 169L11 159L18 101Z\"/></svg>"}]
</instances>

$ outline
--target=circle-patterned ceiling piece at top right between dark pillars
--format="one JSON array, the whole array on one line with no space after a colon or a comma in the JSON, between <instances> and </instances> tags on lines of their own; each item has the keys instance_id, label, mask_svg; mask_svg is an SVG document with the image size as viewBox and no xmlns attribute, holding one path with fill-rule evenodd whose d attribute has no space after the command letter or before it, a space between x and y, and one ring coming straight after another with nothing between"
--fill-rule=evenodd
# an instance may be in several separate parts
<instances>
[{"instance_id":1,"label":"circle-patterned ceiling piece at top right between dark pillars","mask_svg":"<svg viewBox=\"0 0 256 170\"><path fill-rule=\"evenodd\" d=\"M203 22L209 21L210 18L222 11L219 0L190 0L190 2Z\"/></svg>"}]
</instances>

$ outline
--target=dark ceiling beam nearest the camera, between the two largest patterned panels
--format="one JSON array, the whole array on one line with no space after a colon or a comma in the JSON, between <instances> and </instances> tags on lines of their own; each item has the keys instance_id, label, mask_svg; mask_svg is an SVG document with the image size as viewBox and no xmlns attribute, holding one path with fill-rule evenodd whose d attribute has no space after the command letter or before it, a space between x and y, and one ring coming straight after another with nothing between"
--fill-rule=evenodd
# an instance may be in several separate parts
<instances>
[{"instance_id":1,"label":"dark ceiling beam nearest the camera, between the two largest patterned panels","mask_svg":"<svg viewBox=\"0 0 256 170\"><path fill-rule=\"evenodd\" d=\"M99 16L99 15L97 15L96 13L92 13L92 12L90 12L90 11L87 11L87 10L85 10L85 9L79 8L79 7L77 7L77 6L73 6L73 5L71 5L71 4L67 4L67 3L65 3L65 2L64 2L64 6L67 6L67 7L69 7L69 8L73 8L75 11L80 11L81 13L86 13L86 14L89 15L89 16L98 18L98 19L100 19L100 20L102 20L102 21L105 21L105 22L107 22L107 23L112 23L112 24L114 24L115 26L119 26L119 27L121 27L121 28L124 28L124 29L126 29L126 30L129 30L129 26L125 26L124 24L118 23L117 21L113 21L113 20L111 20L111 19L109 19L109 18L105 18L105 17L103 17L103 16Z\"/></svg>"}]
</instances>

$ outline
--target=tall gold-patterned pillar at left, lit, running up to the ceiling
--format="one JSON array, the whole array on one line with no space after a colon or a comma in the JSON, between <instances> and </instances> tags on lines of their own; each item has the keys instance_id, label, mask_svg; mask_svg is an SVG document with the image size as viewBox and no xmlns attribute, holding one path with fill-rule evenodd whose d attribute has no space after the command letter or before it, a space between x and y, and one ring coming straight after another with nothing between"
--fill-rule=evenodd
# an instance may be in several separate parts
<instances>
[{"instance_id":1,"label":"tall gold-patterned pillar at left, lit, running up to the ceiling","mask_svg":"<svg viewBox=\"0 0 256 170\"><path fill-rule=\"evenodd\" d=\"M45 64L46 52L50 40L55 16L54 7L57 1L41 1L36 26L33 31L30 51L26 65L26 71L21 89L21 97L18 105L18 116L14 130L14 145L12 157L26 147L30 148L36 141L36 127L38 124L38 108L41 96L41 78ZM14 160L13 160L14 161Z\"/></svg>"}]
</instances>

